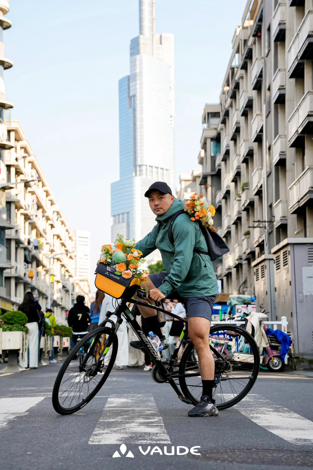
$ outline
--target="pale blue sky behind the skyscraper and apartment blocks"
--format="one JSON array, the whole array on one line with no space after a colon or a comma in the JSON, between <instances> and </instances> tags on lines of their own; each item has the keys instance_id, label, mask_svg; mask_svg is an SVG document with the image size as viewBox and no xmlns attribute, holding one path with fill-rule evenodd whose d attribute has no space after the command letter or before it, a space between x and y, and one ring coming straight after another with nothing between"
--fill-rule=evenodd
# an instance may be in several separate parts
<instances>
[{"instance_id":1,"label":"pale blue sky behind the skyscraper and apartment blocks","mask_svg":"<svg viewBox=\"0 0 313 470\"><path fill-rule=\"evenodd\" d=\"M118 79L129 73L138 0L11 0L6 97L72 230L91 231L92 273L110 241L118 179ZM197 167L201 113L218 102L246 0L156 0L156 31L175 40L175 160ZM127 196L127 189L121 195ZM121 210L122 212L122 210ZM92 282L94 276L92 275Z\"/></svg>"}]
</instances>

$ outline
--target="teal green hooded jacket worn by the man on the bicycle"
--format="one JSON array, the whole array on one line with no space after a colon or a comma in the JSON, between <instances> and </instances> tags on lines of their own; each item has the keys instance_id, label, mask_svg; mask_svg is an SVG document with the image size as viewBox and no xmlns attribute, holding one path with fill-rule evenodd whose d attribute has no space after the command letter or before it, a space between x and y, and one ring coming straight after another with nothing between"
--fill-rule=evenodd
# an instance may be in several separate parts
<instances>
[{"instance_id":1,"label":"teal green hooded jacket worn by the man on the bicycle","mask_svg":"<svg viewBox=\"0 0 313 470\"><path fill-rule=\"evenodd\" d=\"M217 280L210 256L201 255L207 266L204 267L203 260L193 251L194 248L208 251L199 223L190 220L186 214L179 215L172 227L174 245L168 239L170 219L181 209L185 209L185 204L175 198L170 209L157 216L158 224L135 247L144 257L160 250L167 276L159 289L165 297L173 290L178 290L183 298L217 295Z\"/></svg>"}]
</instances>

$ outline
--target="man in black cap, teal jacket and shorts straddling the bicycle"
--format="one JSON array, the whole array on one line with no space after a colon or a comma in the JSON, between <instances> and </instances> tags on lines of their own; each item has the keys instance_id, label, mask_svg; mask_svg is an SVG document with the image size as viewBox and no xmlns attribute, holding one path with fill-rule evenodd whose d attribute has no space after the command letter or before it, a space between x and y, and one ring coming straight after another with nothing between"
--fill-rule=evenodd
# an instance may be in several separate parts
<instances>
[{"instance_id":1,"label":"man in black cap, teal jacket and shorts straddling the bicycle","mask_svg":"<svg viewBox=\"0 0 313 470\"><path fill-rule=\"evenodd\" d=\"M149 274L142 288L149 289L149 301L164 298L182 298L187 304L188 333L198 356L203 392L199 403L189 416L217 416L218 409L212 398L214 385L214 359L209 345L212 306L218 293L213 263L207 252L207 243L198 223L180 214L172 224L173 244L168 237L168 228L175 212L185 209L185 204L172 195L171 188L163 181L152 184L145 193L149 206L156 214L157 225L140 242L136 249L148 256L158 249L166 271ZM201 252L201 255L196 251ZM149 330L160 337L164 349L168 347L155 310L138 306L148 323ZM142 349L141 341L130 343Z\"/></svg>"}]
</instances>

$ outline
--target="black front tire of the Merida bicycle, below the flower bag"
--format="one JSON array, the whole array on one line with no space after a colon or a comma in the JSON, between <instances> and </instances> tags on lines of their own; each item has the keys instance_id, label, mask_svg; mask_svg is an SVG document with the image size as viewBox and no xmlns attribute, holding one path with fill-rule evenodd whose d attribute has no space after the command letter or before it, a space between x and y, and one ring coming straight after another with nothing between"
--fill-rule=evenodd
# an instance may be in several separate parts
<instances>
[{"instance_id":1,"label":"black front tire of the Merida bicycle, below the flower bag","mask_svg":"<svg viewBox=\"0 0 313 470\"><path fill-rule=\"evenodd\" d=\"M90 340L93 337L95 337L99 334L100 335L114 335L114 338L112 340L112 348L111 348L111 355L110 355L109 363L107 364L107 368L104 369L103 377L99 380L98 384L94 387L92 392L90 392L90 394L88 394L88 396L85 399L82 399L82 401L80 401L79 403L77 403L73 407L63 407L62 404L60 403L60 400L59 400L59 392L60 392L60 386L61 386L61 384L63 384L63 382L62 382L63 376L65 375L68 367L70 366L71 361L74 360L74 358L77 356L77 352L79 351L79 349L81 347L84 347L84 345L88 344L88 342L90 342ZM97 344L95 345L95 347L97 347ZM54 384L54 387L53 387L52 405L53 405L55 411L57 413L59 413L59 415L70 415L72 413L75 413L76 411L78 411L82 407L84 407L87 403L89 403L89 401L91 399L94 398L94 396L99 392L99 390L101 389L101 387L103 386L103 384L107 380L107 378L108 378L108 376L109 376L109 374L112 370L112 367L114 365L116 355L117 355L117 348L118 348L117 336L116 336L116 334L114 333L114 331L112 329L107 328L107 327L101 327L101 328L94 329L93 331L88 333L86 336L84 336L77 343L77 345L75 345L75 347L70 351L70 354L64 360L64 362L63 362L63 364L62 364L62 366L59 370L59 373L58 373L58 375L55 379L55 384ZM92 357L92 355L90 355L90 357ZM74 372L74 374L75 374L75 372ZM81 374L81 372L79 371L78 382L82 382L80 374ZM69 380L69 379L66 379L66 380ZM71 382L74 382L74 381L75 381L75 378ZM84 379L83 379L83 382L84 382ZM77 386L76 386L76 388L77 388ZM89 385L88 385L88 391L89 391ZM70 394L70 392L69 392L69 394ZM79 398L80 398L80 395L79 395Z\"/></svg>"}]
</instances>

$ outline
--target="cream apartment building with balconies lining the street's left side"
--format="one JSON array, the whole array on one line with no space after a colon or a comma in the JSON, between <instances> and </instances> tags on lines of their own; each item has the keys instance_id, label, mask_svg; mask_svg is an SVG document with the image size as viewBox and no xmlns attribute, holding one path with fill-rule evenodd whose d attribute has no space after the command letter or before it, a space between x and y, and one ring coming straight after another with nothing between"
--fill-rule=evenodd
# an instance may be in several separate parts
<instances>
[{"instance_id":1,"label":"cream apartment building with balconies lining the street's left side","mask_svg":"<svg viewBox=\"0 0 313 470\"><path fill-rule=\"evenodd\" d=\"M17 309L32 291L64 323L78 292L88 302L89 283L75 281L71 231L21 124L11 120L4 85L4 71L13 66L3 43L12 25L8 10L9 1L0 0L0 309Z\"/></svg>"}]
</instances>

